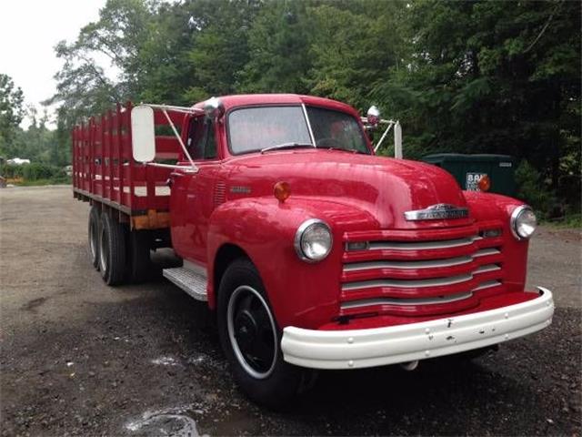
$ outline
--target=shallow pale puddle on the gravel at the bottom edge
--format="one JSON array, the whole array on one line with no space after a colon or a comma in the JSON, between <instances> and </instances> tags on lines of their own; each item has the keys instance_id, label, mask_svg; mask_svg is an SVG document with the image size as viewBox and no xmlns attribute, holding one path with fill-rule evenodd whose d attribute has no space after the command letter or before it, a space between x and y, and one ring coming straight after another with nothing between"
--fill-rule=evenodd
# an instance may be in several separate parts
<instances>
[{"instance_id":1,"label":"shallow pale puddle on the gravel at the bottom edge","mask_svg":"<svg viewBox=\"0 0 582 437\"><path fill-rule=\"evenodd\" d=\"M168 408L159 411L147 411L141 419L128 422L125 429L139 435L164 435L170 437L208 437L198 433L196 421L186 414L187 411L203 413L194 405Z\"/></svg>"}]
</instances>

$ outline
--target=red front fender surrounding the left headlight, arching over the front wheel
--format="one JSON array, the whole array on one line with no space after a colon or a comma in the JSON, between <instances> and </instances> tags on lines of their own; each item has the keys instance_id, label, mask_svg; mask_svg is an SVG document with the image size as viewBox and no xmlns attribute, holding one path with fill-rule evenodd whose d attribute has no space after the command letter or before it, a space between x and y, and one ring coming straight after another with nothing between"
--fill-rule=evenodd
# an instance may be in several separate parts
<instances>
[{"instance_id":1,"label":"red front fender surrounding the left headlight, arching over the front wheel","mask_svg":"<svg viewBox=\"0 0 582 437\"><path fill-rule=\"evenodd\" d=\"M323 219L332 229L329 256L317 263L299 259L296 229L306 219ZM326 198L241 198L216 208L208 234L208 302L216 305L216 254L225 244L244 250L255 264L281 329L316 329L339 311L343 234L376 228L366 211Z\"/></svg>"}]
</instances>

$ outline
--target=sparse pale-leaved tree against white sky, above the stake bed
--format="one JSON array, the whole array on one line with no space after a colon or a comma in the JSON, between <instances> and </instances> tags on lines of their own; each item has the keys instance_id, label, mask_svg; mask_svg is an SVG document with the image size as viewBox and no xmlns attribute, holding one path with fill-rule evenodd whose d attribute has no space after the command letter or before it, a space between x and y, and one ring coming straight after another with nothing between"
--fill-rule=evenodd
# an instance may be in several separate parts
<instances>
[{"instance_id":1,"label":"sparse pale-leaved tree against white sky, above the stake bed","mask_svg":"<svg viewBox=\"0 0 582 437\"><path fill-rule=\"evenodd\" d=\"M153 37L155 8L154 1L107 0L99 20L85 25L75 42L55 46L65 64L55 75L57 93L46 103L65 107L59 117L65 117L67 127L139 94L144 75L140 50ZM99 64L104 58L109 65ZM105 68L116 71L117 80L106 75Z\"/></svg>"}]
</instances>

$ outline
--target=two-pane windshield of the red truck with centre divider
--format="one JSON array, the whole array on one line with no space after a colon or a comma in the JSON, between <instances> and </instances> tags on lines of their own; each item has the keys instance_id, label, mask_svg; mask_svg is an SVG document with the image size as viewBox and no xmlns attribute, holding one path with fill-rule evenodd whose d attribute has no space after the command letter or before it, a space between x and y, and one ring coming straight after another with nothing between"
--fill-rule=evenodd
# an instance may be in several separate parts
<instances>
[{"instance_id":1,"label":"two-pane windshield of the red truck with centre divider","mask_svg":"<svg viewBox=\"0 0 582 437\"><path fill-rule=\"evenodd\" d=\"M369 154L356 118L322 107L306 107L316 147ZM235 155L313 145L303 107L242 107L228 116L228 137Z\"/></svg>"}]
</instances>

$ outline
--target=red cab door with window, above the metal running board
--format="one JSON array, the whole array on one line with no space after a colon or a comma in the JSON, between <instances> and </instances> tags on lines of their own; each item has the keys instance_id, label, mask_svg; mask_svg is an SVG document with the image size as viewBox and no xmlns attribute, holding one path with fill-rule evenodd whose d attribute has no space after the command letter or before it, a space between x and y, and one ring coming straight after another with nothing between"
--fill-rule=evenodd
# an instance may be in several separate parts
<instances>
[{"instance_id":1,"label":"red cab door with window, above the metal running board","mask_svg":"<svg viewBox=\"0 0 582 437\"><path fill-rule=\"evenodd\" d=\"M198 171L188 171L190 167L185 166L184 170L175 170L171 175L172 245L183 259L206 266L208 224L214 210L213 192L221 168L216 127L210 119L199 116L190 120L186 148Z\"/></svg>"}]
</instances>

